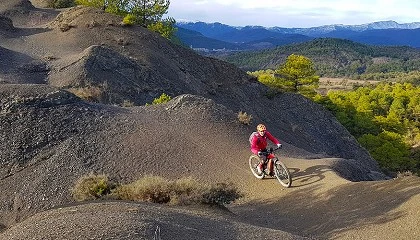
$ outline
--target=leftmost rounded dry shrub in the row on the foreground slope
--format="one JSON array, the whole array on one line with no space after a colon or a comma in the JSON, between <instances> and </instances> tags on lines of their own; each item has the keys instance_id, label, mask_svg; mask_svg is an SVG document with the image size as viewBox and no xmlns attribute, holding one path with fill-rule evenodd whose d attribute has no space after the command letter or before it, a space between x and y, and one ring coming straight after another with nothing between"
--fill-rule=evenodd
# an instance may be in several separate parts
<instances>
[{"instance_id":1,"label":"leftmost rounded dry shrub in the row on the foreground slope","mask_svg":"<svg viewBox=\"0 0 420 240\"><path fill-rule=\"evenodd\" d=\"M94 200L111 193L113 186L106 175L90 173L80 177L71 192L76 201Z\"/></svg>"}]
</instances>

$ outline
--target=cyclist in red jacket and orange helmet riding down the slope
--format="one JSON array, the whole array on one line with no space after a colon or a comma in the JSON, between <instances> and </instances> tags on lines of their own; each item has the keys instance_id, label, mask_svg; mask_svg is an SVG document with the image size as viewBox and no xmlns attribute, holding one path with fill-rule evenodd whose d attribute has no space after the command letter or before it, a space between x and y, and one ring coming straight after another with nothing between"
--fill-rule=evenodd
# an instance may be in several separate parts
<instances>
[{"instance_id":1,"label":"cyclist in red jacket and orange helmet riding down the slope","mask_svg":"<svg viewBox=\"0 0 420 240\"><path fill-rule=\"evenodd\" d=\"M282 145L277 138L273 137L270 132L267 131L267 128L264 124L258 124L257 126L257 132L254 132L250 137L250 143L251 143L251 152L255 155L258 155L261 159L260 164L257 167L258 174L262 174L263 171L263 165L265 162L266 156L262 154L262 152L267 151L267 138L277 145L278 148L281 148ZM268 170L270 176L273 175L273 164L271 163L271 159L268 162Z\"/></svg>"}]
</instances>

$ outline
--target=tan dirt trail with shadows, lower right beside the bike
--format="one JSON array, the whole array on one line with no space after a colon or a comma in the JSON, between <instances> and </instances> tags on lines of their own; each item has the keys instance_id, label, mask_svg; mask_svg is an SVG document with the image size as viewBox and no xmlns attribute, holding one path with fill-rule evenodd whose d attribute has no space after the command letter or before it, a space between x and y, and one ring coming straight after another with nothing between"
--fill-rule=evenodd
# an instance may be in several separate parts
<instances>
[{"instance_id":1,"label":"tan dirt trail with shadows, lower right beside the bike","mask_svg":"<svg viewBox=\"0 0 420 240\"><path fill-rule=\"evenodd\" d=\"M349 182L331 159L285 159L293 186L250 179L229 207L245 222L316 239L420 239L420 178Z\"/></svg>"}]
</instances>

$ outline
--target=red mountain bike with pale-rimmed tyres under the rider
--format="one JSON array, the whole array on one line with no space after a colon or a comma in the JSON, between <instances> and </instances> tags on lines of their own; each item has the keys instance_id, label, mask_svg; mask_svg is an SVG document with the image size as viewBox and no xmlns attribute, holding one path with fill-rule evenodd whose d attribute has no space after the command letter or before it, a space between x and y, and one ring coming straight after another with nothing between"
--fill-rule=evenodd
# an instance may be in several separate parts
<instances>
[{"instance_id":1,"label":"red mountain bike with pale-rimmed tyres under the rider","mask_svg":"<svg viewBox=\"0 0 420 240\"><path fill-rule=\"evenodd\" d=\"M284 163L274 154L274 151L278 149L279 148L270 148L267 151L261 152L262 156L265 156L263 171L261 174L259 174L257 170L258 164L261 162L261 158L259 156L253 154L249 157L249 167L256 178L263 179L265 176L269 175L267 164L271 159L271 162L273 163L274 176L281 185L288 188L292 185L292 176L290 175L289 169L287 169L286 165L284 165Z\"/></svg>"}]
</instances>

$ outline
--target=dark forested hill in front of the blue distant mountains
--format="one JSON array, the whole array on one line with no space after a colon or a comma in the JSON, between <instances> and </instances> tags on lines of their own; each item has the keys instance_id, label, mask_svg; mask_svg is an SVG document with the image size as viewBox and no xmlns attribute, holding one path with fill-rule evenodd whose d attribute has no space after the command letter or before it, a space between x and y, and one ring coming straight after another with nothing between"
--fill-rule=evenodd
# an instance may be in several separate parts
<instances>
[{"instance_id":1,"label":"dark forested hill in front of the blue distant mountains","mask_svg":"<svg viewBox=\"0 0 420 240\"><path fill-rule=\"evenodd\" d=\"M258 71L276 68L291 54L310 58L320 77L394 81L410 75L411 81L420 82L420 50L410 47L370 46L344 39L319 38L215 57L245 71Z\"/></svg>"}]
</instances>

